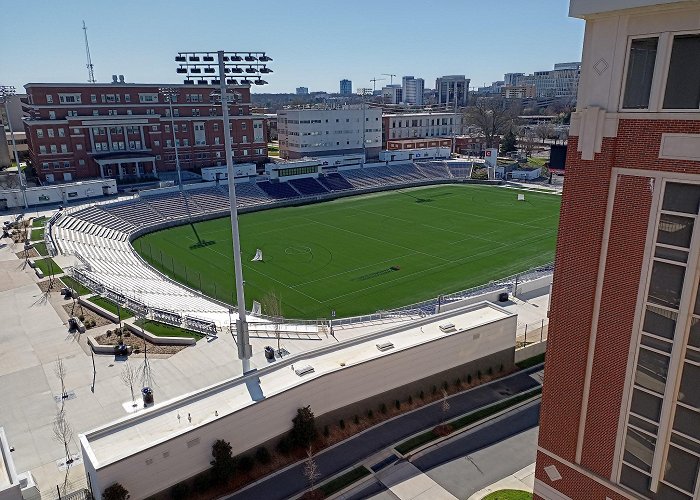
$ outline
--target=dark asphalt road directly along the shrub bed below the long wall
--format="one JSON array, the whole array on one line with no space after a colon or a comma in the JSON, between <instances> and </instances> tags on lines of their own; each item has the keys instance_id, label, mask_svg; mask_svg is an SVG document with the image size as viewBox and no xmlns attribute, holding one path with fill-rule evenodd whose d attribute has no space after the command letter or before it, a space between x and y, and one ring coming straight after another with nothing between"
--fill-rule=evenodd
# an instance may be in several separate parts
<instances>
[{"instance_id":1,"label":"dark asphalt road directly along the shrub bed below the long wall","mask_svg":"<svg viewBox=\"0 0 700 500\"><path fill-rule=\"evenodd\" d=\"M454 418L482 406L503 400L513 394L537 387L539 384L530 377L530 373L540 369L523 370L506 379L451 397L447 418ZM434 427L442 421L443 417L440 402L424 406L412 413L375 426L340 443L334 448L319 453L315 457L321 474L317 482L320 483L343 469L361 462L366 457L419 431ZM282 500L293 497L306 488L306 479L302 472L303 467L303 463L298 463L283 472L262 480L254 486L224 498L231 500L250 498Z\"/></svg>"}]
</instances>

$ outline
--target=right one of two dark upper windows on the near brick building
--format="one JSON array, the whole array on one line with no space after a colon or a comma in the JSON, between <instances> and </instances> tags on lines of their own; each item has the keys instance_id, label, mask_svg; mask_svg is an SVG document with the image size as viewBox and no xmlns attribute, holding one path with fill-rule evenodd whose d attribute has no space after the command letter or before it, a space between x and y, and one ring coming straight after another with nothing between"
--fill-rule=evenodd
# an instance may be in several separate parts
<instances>
[{"instance_id":1,"label":"right one of two dark upper windows on the near brick building","mask_svg":"<svg viewBox=\"0 0 700 500\"><path fill-rule=\"evenodd\" d=\"M673 37L664 108L700 108L700 35Z\"/></svg>"}]
</instances>

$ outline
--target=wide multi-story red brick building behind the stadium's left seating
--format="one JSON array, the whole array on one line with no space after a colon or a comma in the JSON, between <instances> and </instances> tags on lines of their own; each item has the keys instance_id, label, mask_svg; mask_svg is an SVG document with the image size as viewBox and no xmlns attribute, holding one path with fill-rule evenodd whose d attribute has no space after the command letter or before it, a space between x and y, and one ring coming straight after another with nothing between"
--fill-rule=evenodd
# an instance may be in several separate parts
<instances>
[{"instance_id":1,"label":"wide multi-story red brick building behind the stadium's left seating","mask_svg":"<svg viewBox=\"0 0 700 500\"><path fill-rule=\"evenodd\" d=\"M115 78L116 80L116 78ZM159 88L124 83L29 83L24 128L29 156L46 182L92 177L155 177L175 170L225 165L221 105L214 87L173 88L173 119ZM265 122L250 112L250 87L234 86L230 104L234 161L267 158Z\"/></svg>"}]
</instances>

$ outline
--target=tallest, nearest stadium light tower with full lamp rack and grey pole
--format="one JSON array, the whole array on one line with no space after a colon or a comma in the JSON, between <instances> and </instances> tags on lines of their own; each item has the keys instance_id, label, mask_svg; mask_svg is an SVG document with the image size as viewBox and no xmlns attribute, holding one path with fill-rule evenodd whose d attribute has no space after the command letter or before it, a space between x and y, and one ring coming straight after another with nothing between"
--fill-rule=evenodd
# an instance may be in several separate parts
<instances>
[{"instance_id":1,"label":"tallest, nearest stadium light tower with full lamp rack and grey pole","mask_svg":"<svg viewBox=\"0 0 700 500\"><path fill-rule=\"evenodd\" d=\"M216 57L215 57L216 56ZM228 106L230 99L226 94L228 85L238 85L239 81L231 75L243 74L241 85L265 85L263 74L272 73L267 62L272 58L265 52L242 51L226 52L178 52L175 62L179 63L177 72L186 75L185 84L219 85L221 95L221 111L224 121L224 144L226 147L226 170L228 172L228 193L231 209L231 235L233 236L233 267L236 276L236 303L238 304L238 319L236 320L236 343L238 358L243 365L243 373L250 371L252 347L248 338L248 323L246 322L245 295L243 293L243 269L241 267L241 242L238 235L238 209L236 208L236 186L233 171L233 151L231 141L231 123L229 122ZM253 80L249 78L254 78ZM231 96L235 100L235 95Z\"/></svg>"}]
</instances>

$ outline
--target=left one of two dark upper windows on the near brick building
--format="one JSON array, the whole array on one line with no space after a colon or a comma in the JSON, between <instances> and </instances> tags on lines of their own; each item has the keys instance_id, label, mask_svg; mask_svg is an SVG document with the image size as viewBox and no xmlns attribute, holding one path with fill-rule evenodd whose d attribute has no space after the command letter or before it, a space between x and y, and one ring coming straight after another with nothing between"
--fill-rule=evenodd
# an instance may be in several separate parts
<instances>
[{"instance_id":1,"label":"left one of two dark upper windows on the near brick building","mask_svg":"<svg viewBox=\"0 0 700 500\"><path fill-rule=\"evenodd\" d=\"M658 37L632 40L627 61L623 108L646 109L649 107L658 44Z\"/></svg>"}]
</instances>

